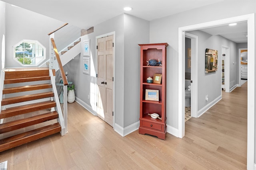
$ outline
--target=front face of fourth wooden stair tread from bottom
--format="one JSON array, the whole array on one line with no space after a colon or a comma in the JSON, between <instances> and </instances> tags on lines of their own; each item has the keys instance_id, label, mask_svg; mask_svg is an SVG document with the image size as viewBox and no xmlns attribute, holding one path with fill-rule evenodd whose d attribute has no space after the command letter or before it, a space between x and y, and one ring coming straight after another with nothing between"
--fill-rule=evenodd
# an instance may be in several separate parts
<instances>
[{"instance_id":1,"label":"front face of fourth wooden stair tread from bottom","mask_svg":"<svg viewBox=\"0 0 256 170\"><path fill-rule=\"evenodd\" d=\"M4 105L8 105L8 104L27 102L27 101L31 101L31 100L38 100L38 99L42 99L42 98L50 98L53 96L54 96L53 92L48 93L48 94L39 94L37 96L26 95L26 96L21 96L22 98L17 97L12 100L2 100L1 104L2 104L2 106L4 106Z\"/></svg>"}]
</instances>

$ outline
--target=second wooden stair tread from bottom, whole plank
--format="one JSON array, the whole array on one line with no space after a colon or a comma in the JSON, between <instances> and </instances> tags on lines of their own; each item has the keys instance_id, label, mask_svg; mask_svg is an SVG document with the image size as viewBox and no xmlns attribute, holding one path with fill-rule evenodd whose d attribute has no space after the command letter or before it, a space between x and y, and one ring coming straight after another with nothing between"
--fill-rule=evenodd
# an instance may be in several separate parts
<instances>
[{"instance_id":1,"label":"second wooden stair tread from bottom, whole plank","mask_svg":"<svg viewBox=\"0 0 256 170\"><path fill-rule=\"evenodd\" d=\"M15 121L10 121L7 123L0 124L0 134L6 133L9 131L14 131L16 129L28 127L31 125L35 125L38 123L42 123L48 120L57 119L58 118L58 112L57 111L51 111L48 113L35 115L32 117L28 117L25 119L19 119Z\"/></svg>"}]
</instances>

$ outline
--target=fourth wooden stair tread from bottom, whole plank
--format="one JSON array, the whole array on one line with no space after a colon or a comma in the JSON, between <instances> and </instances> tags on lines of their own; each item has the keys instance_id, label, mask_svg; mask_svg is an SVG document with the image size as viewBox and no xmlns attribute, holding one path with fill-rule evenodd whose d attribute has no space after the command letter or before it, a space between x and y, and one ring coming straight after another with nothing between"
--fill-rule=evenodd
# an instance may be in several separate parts
<instances>
[{"instance_id":1,"label":"fourth wooden stair tread from bottom, whole plank","mask_svg":"<svg viewBox=\"0 0 256 170\"><path fill-rule=\"evenodd\" d=\"M28 95L24 95L24 96L16 96L16 97L11 97L11 98L4 98L4 99L2 99L1 104L2 104L2 106L4 106L4 105L7 105L7 104L26 102L26 101L30 101L30 100L49 98L49 97L53 97L53 96L54 96L53 92L28 94Z\"/></svg>"}]
</instances>

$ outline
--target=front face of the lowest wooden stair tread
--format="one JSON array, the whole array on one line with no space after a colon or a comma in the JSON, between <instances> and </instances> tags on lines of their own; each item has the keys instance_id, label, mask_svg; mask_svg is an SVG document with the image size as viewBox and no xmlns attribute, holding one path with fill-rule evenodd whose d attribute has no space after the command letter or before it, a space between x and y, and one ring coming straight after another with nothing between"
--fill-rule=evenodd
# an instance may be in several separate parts
<instances>
[{"instance_id":1,"label":"front face of the lowest wooden stair tread","mask_svg":"<svg viewBox=\"0 0 256 170\"><path fill-rule=\"evenodd\" d=\"M20 146L20 145L25 144L25 143L29 143L31 141L35 141L37 139L52 135L54 133L58 133L60 131L61 131L61 127L59 126L59 127L55 127L54 129L48 129L45 132L35 134L35 135L32 135L32 136L28 135L26 137L26 135L24 135L26 133L20 134L19 135L19 136L21 136L20 139L16 139L16 140L10 139L9 141L7 139L7 140L4 140L4 142L1 142L2 144L0 145L0 152L2 152L4 150L11 149L11 148L14 148L14 147L17 147L17 146ZM22 138L22 136L25 136L25 137Z\"/></svg>"}]
</instances>

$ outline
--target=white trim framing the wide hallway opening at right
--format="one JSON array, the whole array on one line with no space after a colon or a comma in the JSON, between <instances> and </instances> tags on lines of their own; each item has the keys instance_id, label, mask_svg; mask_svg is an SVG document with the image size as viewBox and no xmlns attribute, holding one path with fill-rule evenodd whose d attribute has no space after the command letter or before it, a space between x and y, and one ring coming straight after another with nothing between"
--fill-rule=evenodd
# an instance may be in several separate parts
<instances>
[{"instance_id":1,"label":"white trim framing the wide hallway opening at right","mask_svg":"<svg viewBox=\"0 0 256 170\"><path fill-rule=\"evenodd\" d=\"M178 29L178 137L185 135L185 123L182 121L182 106L184 106L184 49L185 32L233 22L247 21L248 31L248 96L247 96L247 169L254 169L254 131L255 131L255 25L254 13L222 20L179 27ZM183 115L183 116L182 116Z\"/></svg>"}]
</instances>

